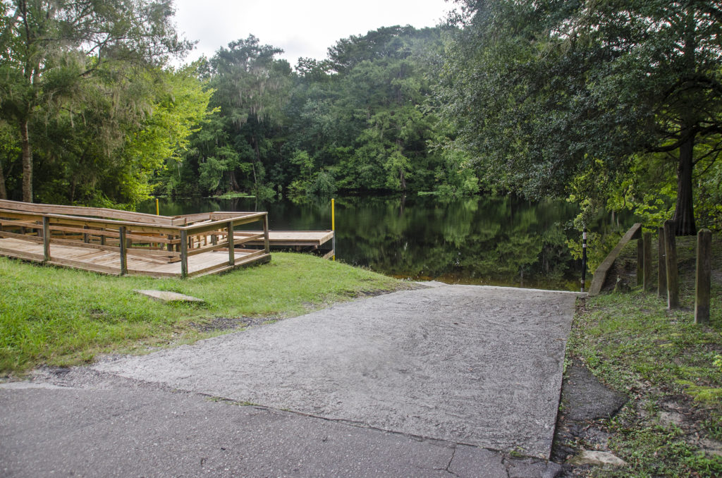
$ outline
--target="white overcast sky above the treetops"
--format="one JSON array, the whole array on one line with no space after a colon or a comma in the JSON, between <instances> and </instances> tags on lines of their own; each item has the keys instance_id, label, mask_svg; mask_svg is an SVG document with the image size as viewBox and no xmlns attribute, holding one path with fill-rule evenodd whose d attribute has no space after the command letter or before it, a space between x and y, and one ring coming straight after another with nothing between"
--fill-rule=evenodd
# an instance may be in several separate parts
<instances>
[{"instance_id":1,"label":"white overcast sky above the treetops","mask_svg":"<svg viewBox=\"0 0 722 478\"><path fill-rule=\"evenodd\" d=\"M433 27L451 8L444 0L175 0L175 22L198 40L186 61L253 34L283 48L295 66L300 56L321 60L336 40L378 27Z\"/></svg>"}]
</instances>

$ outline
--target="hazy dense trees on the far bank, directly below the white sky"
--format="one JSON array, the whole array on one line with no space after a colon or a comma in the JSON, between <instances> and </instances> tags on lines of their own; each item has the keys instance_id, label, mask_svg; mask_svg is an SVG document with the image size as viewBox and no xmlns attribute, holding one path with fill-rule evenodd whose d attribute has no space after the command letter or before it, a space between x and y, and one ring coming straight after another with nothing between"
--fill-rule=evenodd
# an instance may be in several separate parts
<instances>
[{"instance_id":1,"label":"hazy dense trees on the far bank, directly below the white sky","mask_svg":"<svg viewBox=\"0 0 722 478\"><path fill-rule=\"evenodd\" d=\"M434 147L450 131L431 95L442 34L384 27L295 69L253 36L220 48L202 74L214 113L160 175L165 193L477 192L464 155Z\"/></svg>"}]
</instances>

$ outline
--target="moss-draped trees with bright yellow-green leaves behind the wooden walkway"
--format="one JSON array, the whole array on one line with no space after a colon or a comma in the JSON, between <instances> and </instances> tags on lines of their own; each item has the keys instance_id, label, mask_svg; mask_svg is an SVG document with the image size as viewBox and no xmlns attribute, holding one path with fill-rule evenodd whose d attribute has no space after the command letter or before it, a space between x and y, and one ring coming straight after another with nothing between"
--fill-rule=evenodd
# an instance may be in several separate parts
<instances>
[{"instance_id":1,"label":"moss-draped trees with bright yellow-green leaves behind the wooden walkway","mask_svg":"<svg viewBox=\"0 0 722 478\"><path fill-rule=\"evenodd\" d=\"M155 79L148 71L190 48L173 28L171 1L4 0L1 6L0 118L22 144L21 155L5 165L22 166L12 171L9 195L32 201L37 183L45 201L133 204L147 196L147 167L158 165L151 144L160 136L131 141L149 149L151 165L118 152L129 136L153 136L144 131L152 124L143 124L153 109L148 82ZM33 170L41 174L33 177Z\"/></svg>"}]
</instances>

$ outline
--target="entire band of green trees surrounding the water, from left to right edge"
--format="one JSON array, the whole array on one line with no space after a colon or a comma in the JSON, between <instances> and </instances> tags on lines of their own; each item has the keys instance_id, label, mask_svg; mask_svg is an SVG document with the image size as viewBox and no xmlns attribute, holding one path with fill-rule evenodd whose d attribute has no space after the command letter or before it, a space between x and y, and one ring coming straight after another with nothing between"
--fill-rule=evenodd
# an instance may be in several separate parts
<instances>
[{"instance_id":1,"label":"entire band of green trees surrounding the water, from left to right edge","mask_svg":"<svg viewBox=\"0 0 722 478\"><path fill-rule=\"evenodd\" d=\"M722 225L722 4L456 0L295 66L171 0L0 0L0 197L516 191Z\"/></svg>"}]
</instances>

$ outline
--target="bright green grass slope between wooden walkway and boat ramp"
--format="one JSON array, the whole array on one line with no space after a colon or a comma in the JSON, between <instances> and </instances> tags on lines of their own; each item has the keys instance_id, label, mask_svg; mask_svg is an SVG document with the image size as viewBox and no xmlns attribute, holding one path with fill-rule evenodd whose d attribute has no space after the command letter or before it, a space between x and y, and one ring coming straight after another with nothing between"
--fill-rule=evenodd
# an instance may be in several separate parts
<instances>
[{"instance_id":1,"label":"bright green grass slope between wooden walkway and boat ramp","mask_svg":"<svg viewBox=\"0 0 722 478\"><path fill-rule=\"evenodd\" d=\"M0 284L0 375L189 342L217 334L216 323L274 320L404 287L365 269L294 253L186 281L109 277L0 257ZM205 303L160 303L134 289L181 292Z\"/></svg>"}]
</instances>

